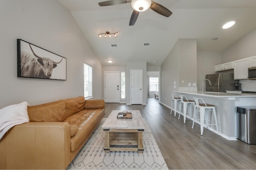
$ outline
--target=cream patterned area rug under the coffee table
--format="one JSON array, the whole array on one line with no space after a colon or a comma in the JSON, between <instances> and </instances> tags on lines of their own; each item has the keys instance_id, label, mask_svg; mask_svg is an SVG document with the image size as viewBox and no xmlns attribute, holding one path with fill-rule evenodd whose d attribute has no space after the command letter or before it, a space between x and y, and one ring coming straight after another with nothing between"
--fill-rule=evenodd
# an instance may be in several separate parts
<instances>
[{"instance_id":1,"label":"cream patterned area rug under the coffee table","mask_svg":"<svg viewBox=\"0 0 256 170\"><path fill-rule=\"evenodd\" d=\"M103 118L87 143L68 166L68 169L168 169L158 145L143 118L146 127L143 133L144 152L112 151L105 153L105 133L101 126Z\"/></svg>"}]
</instances>

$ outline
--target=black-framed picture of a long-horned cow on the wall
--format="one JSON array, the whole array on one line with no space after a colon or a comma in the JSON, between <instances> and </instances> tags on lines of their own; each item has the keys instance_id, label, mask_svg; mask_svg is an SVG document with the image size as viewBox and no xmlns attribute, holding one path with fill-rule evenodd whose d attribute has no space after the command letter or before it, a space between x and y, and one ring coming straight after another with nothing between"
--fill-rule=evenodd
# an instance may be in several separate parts
<instances>
[{"instance_id":1,"label":"black-framed picture of a long-horned cow on the wall","mask_svg":"<svg viewBox=\"0 0 256 170\"><path fill-rule=\"evenodd\" d=\"M18 77L66 80L66 58L17 39Z\"/></svg>"}]
</instances>

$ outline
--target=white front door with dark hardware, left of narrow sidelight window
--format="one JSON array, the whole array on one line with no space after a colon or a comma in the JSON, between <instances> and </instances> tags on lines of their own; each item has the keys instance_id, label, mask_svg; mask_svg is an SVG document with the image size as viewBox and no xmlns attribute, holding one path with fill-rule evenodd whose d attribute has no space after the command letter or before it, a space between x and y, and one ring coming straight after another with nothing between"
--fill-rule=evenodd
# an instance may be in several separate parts
<instances>
[{"instance_id":1,"label":"white front door with dark hardware, left of narrow sidelight window","mask_svg":"<svg viewBox=\"0 0 256 170\"><path fill-rule=\"evenodd\" d=\"M119 72L105 72L105 102L119 103Z\"/></svg>"}]
</instances>

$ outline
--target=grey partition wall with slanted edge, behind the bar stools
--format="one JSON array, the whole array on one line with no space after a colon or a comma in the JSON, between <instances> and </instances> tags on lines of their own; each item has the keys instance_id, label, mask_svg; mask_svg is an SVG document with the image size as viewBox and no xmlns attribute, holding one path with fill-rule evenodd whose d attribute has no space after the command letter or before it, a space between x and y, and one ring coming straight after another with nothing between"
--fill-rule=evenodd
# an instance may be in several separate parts
<instances>
[{"instance_id":1,"label":"grey partition wall with slanted edge, behind the bar stools","mask_svg":"<svg viewBox=\"0 0 256 170\"><path fill-rule=\"evenodd\" d=\"M161 65L161 103L171 106L173 90L193 88L188 83L197 82L196 57L196 39L178 39Z\"/></svg>"}]
</instances>

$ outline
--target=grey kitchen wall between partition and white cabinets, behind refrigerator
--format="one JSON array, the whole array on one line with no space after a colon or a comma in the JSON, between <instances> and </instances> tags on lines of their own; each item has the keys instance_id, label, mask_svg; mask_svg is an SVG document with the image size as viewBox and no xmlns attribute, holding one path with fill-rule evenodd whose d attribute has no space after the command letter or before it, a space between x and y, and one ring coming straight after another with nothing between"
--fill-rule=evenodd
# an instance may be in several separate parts
<instances>
[{"instance_id":1,"label":"grey kitchen wall between partition and white cabinets, behind refrigerator","mask_svg":"<svg viewBox=\"0 0 256 170\"><path fill-rule=\"evenodd\" d=\"M206 74L214 74L214 66L221 64L221 52L197 51L197 89L202 91Z\"/></svg>"}]
</instances>

